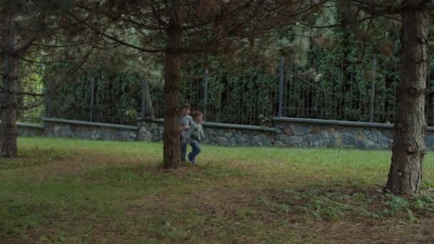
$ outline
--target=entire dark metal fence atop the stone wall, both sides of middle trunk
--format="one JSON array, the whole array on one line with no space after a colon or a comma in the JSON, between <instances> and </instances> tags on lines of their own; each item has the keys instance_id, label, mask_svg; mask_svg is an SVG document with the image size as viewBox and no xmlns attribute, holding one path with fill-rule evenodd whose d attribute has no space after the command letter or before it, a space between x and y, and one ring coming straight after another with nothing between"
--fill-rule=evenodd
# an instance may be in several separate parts
<instances>
[{"instance_id":1,"label":"entire dark metal fence atop the stone wall, both sides of middle trunk","mask_svg":"<svg viewBox=\"0 0 434 244\"><path fill-rule=\"evenodd\" d=\"M276 65L278 66L278 65ZM285 64L277 72L218 73L181 82L180 106L191 103L206 121L268 126L271 117L322 118L393 123L399 82L398 63L365 62ZM427 86L434 90L434 79ZM135 125L146 109L143 78L118 75L81 78L57 88L22 86L23 91L52 90L45 104L19 111L19 121L41 123L42 116ZM163 118L163 89L150 84L156 118ZM23 96L26 104L38 97ZM434 126L434 95L426 99L428 126Z\"/></svg>"}]
</instances>

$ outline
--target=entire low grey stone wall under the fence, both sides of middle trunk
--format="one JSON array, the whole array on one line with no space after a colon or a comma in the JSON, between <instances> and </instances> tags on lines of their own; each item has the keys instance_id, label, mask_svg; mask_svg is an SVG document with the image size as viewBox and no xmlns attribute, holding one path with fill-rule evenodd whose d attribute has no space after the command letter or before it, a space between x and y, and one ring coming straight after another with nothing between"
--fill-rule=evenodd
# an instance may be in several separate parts
<instances>
[{"instance_id":1,"label":"entire low grey stone wall under the fence, both sides of middle trunk","mask_svg":"<svg viewBox=\"0 0 434 244\"><path fill-rule=\"evenodd\" d=\"M162 141L163 119L121 126L46 118L45 126L19 126L20 136L76 137L91 140ZM390 148L393 125L304 118L273 118L273 127L203 123L205 144L220 146L278 146L329 148ZM43 131L43 132L41 132ZM428 127L425 144L434 150L434 127Z\"/></svg>"}]
</instances>

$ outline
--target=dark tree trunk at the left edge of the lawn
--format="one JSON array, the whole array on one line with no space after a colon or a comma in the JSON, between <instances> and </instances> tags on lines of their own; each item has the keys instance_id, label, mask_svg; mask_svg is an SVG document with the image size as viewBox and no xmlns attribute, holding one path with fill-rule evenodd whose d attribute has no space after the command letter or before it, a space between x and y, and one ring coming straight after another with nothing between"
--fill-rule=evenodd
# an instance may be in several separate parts
<instances>
[{"instance_id":1,"label":"dark tree trunk at the left edge of the lawn","mask_svg":"<svg viewBox=\"0 0 434 244\"><path fill-rule=\"evenodd\" d=\"M16 157L16 108L18 106L16 91L16 73L18 68L18 56L16 47L16 9L14 0L6 1L6 31L4 43L4 77L3 98L1 99L1 156L4 158Z\"/></svg>"}]
</instances>

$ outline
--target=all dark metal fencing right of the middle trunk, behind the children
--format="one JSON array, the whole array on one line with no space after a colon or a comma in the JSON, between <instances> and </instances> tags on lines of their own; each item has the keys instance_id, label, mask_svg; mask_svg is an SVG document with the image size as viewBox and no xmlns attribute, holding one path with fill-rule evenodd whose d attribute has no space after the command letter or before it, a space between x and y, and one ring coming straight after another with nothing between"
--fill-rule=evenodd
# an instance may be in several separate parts
<instances>
[{"instance_id":1,"label":"all dark metal fencing right of the middle trunk, behind the children","mask_svg":"<svg viewBox=\"0 0 434 244\"><path fill-rule=\"evenodd\" d=\"M206 113L206 120L265 125L272 116L393 123L399 63L368 59L345 63L286 65L278 73L247 71L184 81L181 101ZM427 79L434 89L434 80ZM427 96L428 126L434 126L434 96Z\"/></svg>"}]
</instances>

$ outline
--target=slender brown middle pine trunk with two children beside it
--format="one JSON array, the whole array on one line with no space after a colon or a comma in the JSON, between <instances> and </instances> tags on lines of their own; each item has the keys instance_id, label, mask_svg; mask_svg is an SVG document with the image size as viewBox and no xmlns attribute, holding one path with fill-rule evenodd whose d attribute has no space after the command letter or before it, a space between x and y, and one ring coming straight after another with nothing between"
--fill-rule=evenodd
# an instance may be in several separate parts
<instances>
[{"instance_id":1,"label":"slender brown middle pine trunk with two children beside it","mask_svg":"<svg viewBox=\"0 0 434 244\"><path fill-rule=\"evenodd\" d=\"M181 1L171 1L167 29L166 71L164 74L164 168L182 166L179 144L178 94L180 92L183 16Z\"/></svg>"}]
</instances>

